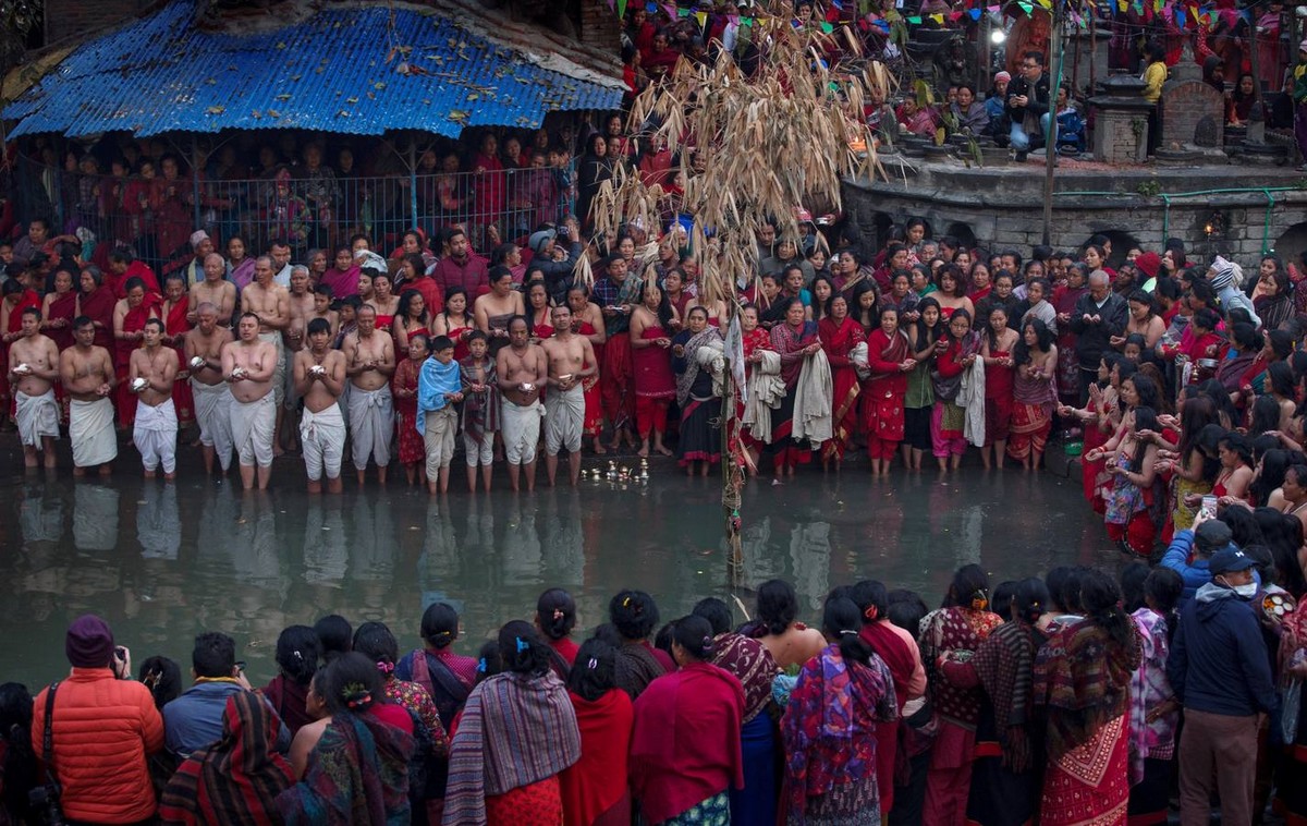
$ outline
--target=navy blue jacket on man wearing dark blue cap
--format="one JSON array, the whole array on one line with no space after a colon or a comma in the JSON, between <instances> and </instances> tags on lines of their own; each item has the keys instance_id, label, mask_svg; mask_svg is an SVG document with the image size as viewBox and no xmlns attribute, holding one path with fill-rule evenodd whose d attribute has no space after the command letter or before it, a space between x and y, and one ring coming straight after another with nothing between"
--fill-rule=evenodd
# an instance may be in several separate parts
<instances>
[{"instance_id":1,"label":"navy blue jacket on man wearing dark blue cap","mask_svg":"<svg viewBox=\"0 0 1307 826\"><path fill-rule=\"evenodd\" d=\"M1185 708L1246 718L1276 707L1266 643L1252 605L1216 583L1180 612L1166 676Z\"/></svg>"}]
</instances>

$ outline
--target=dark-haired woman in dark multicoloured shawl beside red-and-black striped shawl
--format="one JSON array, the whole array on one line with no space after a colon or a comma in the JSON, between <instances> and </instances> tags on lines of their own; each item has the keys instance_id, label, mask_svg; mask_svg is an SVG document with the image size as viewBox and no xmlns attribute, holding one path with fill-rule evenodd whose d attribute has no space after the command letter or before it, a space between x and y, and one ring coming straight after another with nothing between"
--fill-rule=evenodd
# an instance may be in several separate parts
<instances>
[{"instance_id":1,"label":"dark-haired woman in dark multicoloured shawl beside red-and-black striped shawl","mask_svg":"<svg viewBox=\"0 0 1307 826\"><path fill-rule=\"evenodd\" d=\"M286 826L409 822L413 718L386 702L376 664L358 652L327 667L323 691L331 724L305 779L277 797Z\"/></svg>"}]
</instances>

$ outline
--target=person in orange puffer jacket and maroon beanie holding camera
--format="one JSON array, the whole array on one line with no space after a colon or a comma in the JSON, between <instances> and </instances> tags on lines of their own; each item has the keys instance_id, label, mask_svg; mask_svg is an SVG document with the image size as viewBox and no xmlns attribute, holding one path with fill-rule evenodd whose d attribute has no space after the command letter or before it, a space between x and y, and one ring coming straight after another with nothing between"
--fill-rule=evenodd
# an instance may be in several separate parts
<instances>
[{"instance_id":1,"label":"person in orange puffer jacket and maroon beanie holding camera","mask_svg":"<svg viewBox=\"0 0 1307 826\"><path fill-rule=\"evenodd\" d=\"M48 812L58 800L64 818L82 823L153 818L146 758L163 748L163 719L150 690L131 680L131 652L114 644L114 633L94 614L68 627L64 652L72 672L38 694L33 707L31 746L51 774L33 792L33 805Z\"/></svg>"}]
</instances>

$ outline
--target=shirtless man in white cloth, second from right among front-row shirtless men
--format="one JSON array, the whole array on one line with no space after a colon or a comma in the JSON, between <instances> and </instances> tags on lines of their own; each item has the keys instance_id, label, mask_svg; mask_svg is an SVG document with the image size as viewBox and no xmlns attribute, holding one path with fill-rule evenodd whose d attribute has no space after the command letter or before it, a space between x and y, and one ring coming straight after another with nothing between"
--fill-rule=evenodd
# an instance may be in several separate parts
<instances>
[{"instance_id":1,"label":"shirtless man in white cloth, second from right among front-row shirtless men","mask_svg":"<svg viewBox=\"0 0 1307 826\"><path fill-rule=\"evenodd\" d=\"M540 417L545 413L540 386L549 378L549 359L538 345L531 344L525 316L515 315L508 322L508 346L495 357L495 372L503 395L499 426L508 459L508 482L516 491L519 468L525 467L527 490L531 491L536 489L536 447L540 444Z\"/></svg>"}]
</instances>

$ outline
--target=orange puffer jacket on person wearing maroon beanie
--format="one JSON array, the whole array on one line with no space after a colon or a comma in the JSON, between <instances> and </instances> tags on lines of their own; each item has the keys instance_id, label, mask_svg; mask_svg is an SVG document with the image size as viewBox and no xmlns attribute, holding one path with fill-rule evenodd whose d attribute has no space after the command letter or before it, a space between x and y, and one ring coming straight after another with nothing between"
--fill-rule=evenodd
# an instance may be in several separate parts
<instances>
[{"instance_id":1,"label":"orange puffer jacket on person wearing maroon beanie","mask_svg":"<svg viewBox=\"0 0 1307 826\"><path fill-rule=\"evenodd\" d=\"M46 698L37 695L31 745L46 761ZM91 823L135 823L154 816L148 754L163 748L163 718L140 682L107 668L74 668L55 693L55 772L64 787L64 817Z\"/></svg>"}]
</instances>

